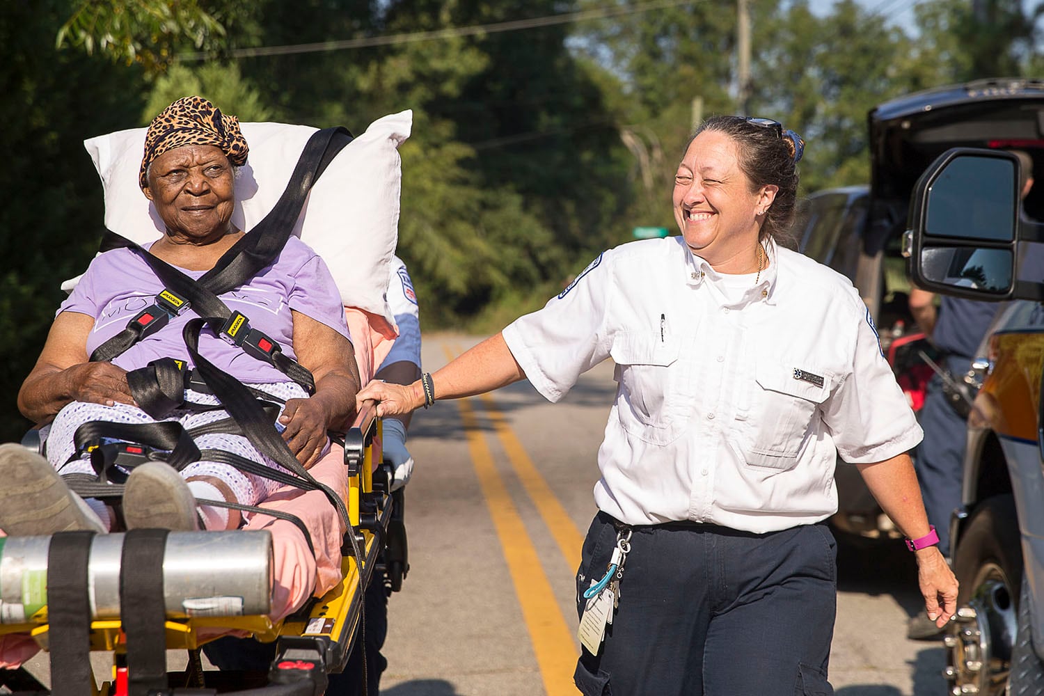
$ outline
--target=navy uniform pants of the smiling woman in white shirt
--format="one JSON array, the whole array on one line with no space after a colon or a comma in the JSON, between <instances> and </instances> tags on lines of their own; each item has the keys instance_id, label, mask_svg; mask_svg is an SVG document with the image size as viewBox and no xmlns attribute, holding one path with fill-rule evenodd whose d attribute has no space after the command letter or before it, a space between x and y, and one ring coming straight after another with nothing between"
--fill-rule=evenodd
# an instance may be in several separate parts
<instances>
[{"instance_id":1,"label":"navy uniform pants of the smiling woman in white shirt","mask_svg":"<svg viewBox=\"0 0 1044 696\"><path fill-rule=\"evenodd\" d=\"M616 545L599 512L576 575L577 610ZM754 534L715 525L634 527L619 608L585 696L833 696L836 545L825 524Z\"/></svg>"}]
</instances>

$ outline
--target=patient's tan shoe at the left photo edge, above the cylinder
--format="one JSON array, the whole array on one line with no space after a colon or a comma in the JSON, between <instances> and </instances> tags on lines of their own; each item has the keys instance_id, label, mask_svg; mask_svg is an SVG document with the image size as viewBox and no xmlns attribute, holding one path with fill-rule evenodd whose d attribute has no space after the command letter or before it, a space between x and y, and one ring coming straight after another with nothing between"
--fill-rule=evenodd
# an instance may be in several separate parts
<instances>
[{"instance_id":1,"label":"patient's tan shoe at the left photo edge, above the cylinder","mask_svg":"<svg viewBox=\"0 0 1044 696\"><path fill-rule=\"evenodd\" d=\"M22 445L0 445L0 529L8 536L108 531L51 462Z\"/></svg>"}]
</instances>

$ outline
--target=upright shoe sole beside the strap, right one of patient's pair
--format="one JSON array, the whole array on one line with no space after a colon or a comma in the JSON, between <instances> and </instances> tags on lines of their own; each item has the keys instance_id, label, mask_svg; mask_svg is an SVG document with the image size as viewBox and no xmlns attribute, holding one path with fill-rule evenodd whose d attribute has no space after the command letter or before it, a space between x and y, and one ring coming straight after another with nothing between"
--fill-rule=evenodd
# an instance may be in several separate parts
<instances>
[{"instance_id":1,"label":"upright shoe sole beside the strap, right one of patient's pair","mask_svg":"<svg viewBox=\"0 0 1044 696\"><path fill-rule=\"evenodd\" d=\"M123 486L123 520L127 529L199 529L195 498L188 484L162 461L149 461L130 472Z\"/></svg>"}]
</instances>

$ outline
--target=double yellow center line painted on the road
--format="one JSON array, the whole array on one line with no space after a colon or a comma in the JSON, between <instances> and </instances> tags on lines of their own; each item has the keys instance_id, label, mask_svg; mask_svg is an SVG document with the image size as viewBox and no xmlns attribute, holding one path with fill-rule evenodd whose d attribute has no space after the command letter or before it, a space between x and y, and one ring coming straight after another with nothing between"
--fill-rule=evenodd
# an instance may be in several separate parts
<instances>
[{"instance_id":1,"label":"double yellow center line painted on the road","mask_svg":"<svg viewBox=\"0 0 1044 696\"><path fill-rule=\"evenodd\" d=\"M448 360L452 360L460 353L457 346L453 350L444 346L443 350ZM478 428L472 400L461 399L457 403L468 440L468 451L503 549L504 560L507 562L515 594L522 609L522 618L529 631L537 665L544 680L544 690L548 696L575 694L576 688L573 686L572 675L576 666L576 647L572 631L554 598L551 584L541 566L540 556L525 529L522 517L497 472L493 455ZM584 537L554 497L544 477L537 471L493 399L489 394L483 394L482 403L515 473L522 481L526 493L532 498L544 524L551 530L570 567L577 568Z\"/></svg>"}]
</instances>

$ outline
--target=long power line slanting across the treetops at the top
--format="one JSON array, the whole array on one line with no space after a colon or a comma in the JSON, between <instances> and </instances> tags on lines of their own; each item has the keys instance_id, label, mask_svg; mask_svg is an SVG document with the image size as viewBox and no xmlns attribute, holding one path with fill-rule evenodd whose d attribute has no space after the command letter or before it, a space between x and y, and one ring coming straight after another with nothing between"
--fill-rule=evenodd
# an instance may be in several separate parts
<instances>
[{"instance_id":1,"label":"long power line slanting across the treetops at the top","mask_svg":"<svg viewBox=\"0 0 1044 696\"><path fill-rule=\"evenodd\" d=\"M409 33L394 33L384 37L366 37L362 39L345 39L339 41L324 41L316 44L293 44L290 46L260 46L257 48L237 48L230 51L229 55L234 58L253 58L265 55L296 55L299 53L317 53L322 51L341 51L353 48L372 48L374 46L394 46L398 44L408 44L418 41L436 41L440 39L454 39L456 37L473 37L480 33L498 33L501 31L519 31L522 29L535 29L538 27L554 26L557 24L569 24L571 22L582 22L586 20L606 19L609 17L620 17L623 15L636 15L647 13L654 9L664 9L678 5L688 5L693 2L705 0L654 0L630 7L604 7L601 9L585 9L575 13L565 13L563 15L551 15L548 17L533 17L525 20L512 20L507 22L495 22L492 24L476 24L473 26L447 27L445 29L432 29L430 31L413 31ZM204 61L210 57L210 53L203 51L194 53L179 53L174 58L182 63L193 61Z\"/></svg>"}]
</instances>

